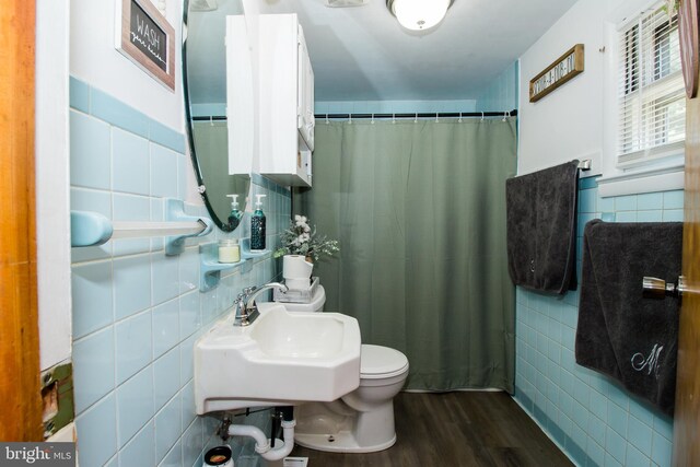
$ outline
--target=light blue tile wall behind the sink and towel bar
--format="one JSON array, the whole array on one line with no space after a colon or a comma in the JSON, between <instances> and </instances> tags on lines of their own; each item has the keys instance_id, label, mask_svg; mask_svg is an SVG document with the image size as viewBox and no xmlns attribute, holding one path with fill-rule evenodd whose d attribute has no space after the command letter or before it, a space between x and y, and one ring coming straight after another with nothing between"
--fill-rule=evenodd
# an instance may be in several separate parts
<instances>
[{"instance_id":1,"label":"light blue tile wall behind the sink and towel bar","mask_svg":"<svg viewBox=\"0 0 700 467\"><path fill-rule=\"evenodd\" d=\"M70 80L71 209L110 220L161 221L163 199L187 191L185 136L85 82ZM268 244L288 224L291 195L254 176L268 197ZM202 206L186 212L207 215ZM231 307L244 287L273 280L271 255L226 271L221 284L199 292L199 244L165 256L162 237L110 241L72 250L73 369L79 462L85 466L200 466L219 444L215 421L195 415L192 347ZM248 236L249 227L236 232ZM249 261L248 261L249 262ZM261 411L236 423L266 429ZM254 442L231 440L236 457Z\"/></svg>"}]
</instances>

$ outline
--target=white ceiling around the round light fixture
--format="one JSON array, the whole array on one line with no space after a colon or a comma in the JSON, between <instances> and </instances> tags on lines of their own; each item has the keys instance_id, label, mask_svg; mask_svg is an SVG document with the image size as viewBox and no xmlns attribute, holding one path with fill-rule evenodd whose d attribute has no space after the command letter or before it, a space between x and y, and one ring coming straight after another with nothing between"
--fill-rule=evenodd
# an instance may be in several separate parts
<instances>
[{"instance_id":1,"label":"white ceiling around the round light fixture","mask_svg":"<svg viewBox=\"0 0 700 467\"><path fill-rule=\"evenodd\" d=\"M353 8L259 1L261 13L299 14L316 101L428 101L475 98L576 0L454 0L423 35L402 30L385 0Z\"/></svg>"}]
</instances>

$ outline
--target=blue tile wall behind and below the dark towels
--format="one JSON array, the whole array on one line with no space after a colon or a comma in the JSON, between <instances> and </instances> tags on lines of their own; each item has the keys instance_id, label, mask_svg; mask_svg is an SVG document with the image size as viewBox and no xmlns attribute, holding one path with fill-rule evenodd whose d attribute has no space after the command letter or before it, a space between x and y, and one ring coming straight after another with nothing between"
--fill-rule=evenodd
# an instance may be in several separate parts
<instances>
[{"instance_id":1,"label":"blue tile wall behind and below the dark towels","mask_svg":"<svg viewBox=\"0 0 700 467\"><path fill-rule=\"evenodd\" d=\"M681 221L682 190L600 198L594 178L579 185L579 267L583 226ZM516 290L515 400L579 466L670 466L673 420L615 381L574 360L579 294Z\"/></svg>"}]
</instances>

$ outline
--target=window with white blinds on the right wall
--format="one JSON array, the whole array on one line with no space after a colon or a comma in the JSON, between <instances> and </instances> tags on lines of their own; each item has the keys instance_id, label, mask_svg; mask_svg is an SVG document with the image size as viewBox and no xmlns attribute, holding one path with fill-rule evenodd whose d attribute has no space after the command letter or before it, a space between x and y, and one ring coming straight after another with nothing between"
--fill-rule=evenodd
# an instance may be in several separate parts
<instances>
[{"instance_id":1,"label":"window with white blinds on the right wall","mask_svg":"<svg viewBox=\"0 0 700 467\"><path fill-rule=\"evenodd\" d=\"M619 32L618 165L682 153L686 96L678 15L665 7L641 14Z\"/></svg>"}]
</instances>

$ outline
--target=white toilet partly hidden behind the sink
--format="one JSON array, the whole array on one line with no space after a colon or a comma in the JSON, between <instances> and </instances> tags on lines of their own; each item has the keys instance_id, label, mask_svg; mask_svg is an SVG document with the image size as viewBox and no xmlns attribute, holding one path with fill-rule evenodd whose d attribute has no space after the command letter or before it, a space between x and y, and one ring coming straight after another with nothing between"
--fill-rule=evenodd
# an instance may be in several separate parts
<instances>
[{"instance_id":1,"label":"white toilet partly hidden behind the sink","mask_svg":"<svg viewBox=\"0 0 700 467\"><path fill-rule=\"evenodd\" d=\"M284 303L290 312L322 312L326 291L317 285L311 303ZM294 441L337 453L372 453L396 443L394 396L408 376L408 359L388 347L362 345L360 387L332 402L295 407Z\"/></svg>"}]
</instances>

